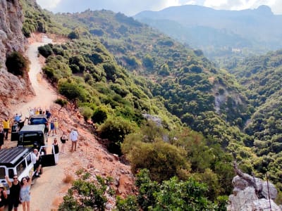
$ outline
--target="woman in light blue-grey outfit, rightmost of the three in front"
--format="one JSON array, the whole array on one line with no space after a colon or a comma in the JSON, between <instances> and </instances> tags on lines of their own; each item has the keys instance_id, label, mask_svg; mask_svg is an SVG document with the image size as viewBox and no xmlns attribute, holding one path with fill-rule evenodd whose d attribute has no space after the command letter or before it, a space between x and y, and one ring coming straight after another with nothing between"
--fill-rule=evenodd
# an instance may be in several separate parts
<instances>
[{"instance_id":1,"label":"woman in light blue-grey outfit, rightmost of the three in front","mask_svg":"<svg viewBox=\"0 0 282 211\"><path fill-rule=\"evenodd\" d=\"M30 186L32 179L23 177L20 181L20 202L23 205L23 211L30 211Z\"/></svg>"}]
</instances>

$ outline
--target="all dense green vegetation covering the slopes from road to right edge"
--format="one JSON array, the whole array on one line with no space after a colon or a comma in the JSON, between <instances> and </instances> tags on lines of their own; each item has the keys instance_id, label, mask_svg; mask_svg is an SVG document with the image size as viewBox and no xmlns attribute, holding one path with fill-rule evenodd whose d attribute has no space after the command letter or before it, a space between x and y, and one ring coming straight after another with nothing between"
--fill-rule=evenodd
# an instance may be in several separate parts
<instances>
[{"instance_id":1,"label":"all dense green vegetation covering the slopes from road to right edge","mask_svg":"<svg viewBox=\"0 0 282 211\"><path fill-rule=\"evenodd\" d=\"M231 193L233 159L244 172L261 177L270 172L282 190L277 179L282 149L279 51L266 55L264 63L262 58L233 63L227 72L215 68L202 51L121 13L53 15L26 5L32 20L37 13L46 15L47 32L61 29L57 33L68 37L65 43L39 48L46 58L45 76L85 120L97 124L99 136L109 139L109 151L125 155L133 173L149 170L137 184L139 198L121 199L117 207L158 210L167 206L168 189L178 187L184 193L192 190L195 198L185 195L184 200L176 193L173 197L180 200L171 209L198 200L198 210L220 210ZM77 205L73 194L81 184L97 191L78 181L62 206ZM154 188L150 196L141 196L147 186ZM95 207L93 200L80 203ZM104 199L99 202L103 206Z\"/></svg>"}]
</instances>

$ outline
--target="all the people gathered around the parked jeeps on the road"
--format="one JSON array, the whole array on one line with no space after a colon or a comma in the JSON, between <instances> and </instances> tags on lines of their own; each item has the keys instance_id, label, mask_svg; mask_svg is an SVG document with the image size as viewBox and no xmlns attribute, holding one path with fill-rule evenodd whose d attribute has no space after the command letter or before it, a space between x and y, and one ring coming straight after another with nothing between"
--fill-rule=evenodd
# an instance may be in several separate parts
<instances>
[{"instance_id":1,"label":"all the people gathered around the parked jeeps on the road","mask_svg":"<svg viewBox=\"0 0 282 211\"><path fill-rule=\"evenodd\" d=\"M54 141L52 143L54 147L54 158L56 164L58 164L59 161L59 141L56 137L57 134L59 134L59 122L56 117L53 117L51 119L51 113L49 110L46 110L45 112L41 108L30 108L29 110L30 115L36 115L36 114L44 114L47 115L47 119L49 120L49 136L52 134L52 136L55 135ZM4 139L8 139L8 131L10 129L10 122L13 124L17 122L18 124L22 122L21 120L22 114L16 114L13 118L6 117L4 120L2 120L2 124L0 124L0 149L1 146L4 144ZM61 153L66 153L66 141L68 139L71 140L71 152L76 151L77 148L77 142L78 142L78 131L77 129L73 128L71 129L70 134L67 134L65 131L63 131L63 134L61 134L60 141L61 141ZM43 150L44 151L44 150ZM42 163L41 163L41 157L39 155L39 151L37 148L33 149L32 155L31 155L31 161L34 167L34 176L40 177L39 174L42 174ZM8 211L11 210L18 210L19 203L22 203L23 205L23 211L30 210L30 186L32 183L32 176L31 177L23 177L21 181L18 181L18 176L14 175L13 181L10 181L8 177L6 176L6 182L9 186L9 194L6 193L4 185L0 183L0 211L4 210L5 205L8 205Z\"/></svg>"}]
</instances>

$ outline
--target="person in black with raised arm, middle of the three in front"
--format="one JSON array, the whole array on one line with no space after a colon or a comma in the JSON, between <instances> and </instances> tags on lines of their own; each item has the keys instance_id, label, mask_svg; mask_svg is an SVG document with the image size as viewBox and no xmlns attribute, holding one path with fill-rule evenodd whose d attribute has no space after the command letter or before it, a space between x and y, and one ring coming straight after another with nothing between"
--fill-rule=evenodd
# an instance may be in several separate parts
<instances>
[{"instance_id":1,"label":"person in black with raised arm, middle of the three in front","mask_svg":"<svg viewBox=\"0 0 282 211\"><path fill-rule=\"evenodd\" d=\"M18 204L20 203L20 182L18 181L18 175L13 175L13 181L5 176L6 182L10 187L10 194L8 195L8 211L17 211Z\"/></svg>"}]
</instances>

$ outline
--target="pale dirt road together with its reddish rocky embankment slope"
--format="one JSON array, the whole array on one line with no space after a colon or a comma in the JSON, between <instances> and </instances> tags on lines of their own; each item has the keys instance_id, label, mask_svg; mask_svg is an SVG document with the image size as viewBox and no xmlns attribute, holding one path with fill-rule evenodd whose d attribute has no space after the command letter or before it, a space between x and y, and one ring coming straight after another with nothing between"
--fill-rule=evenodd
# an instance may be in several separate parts
<instances>
[{"instance_id":1,"label":"pale dirt road together with its reddish rocky embankment slope","mask_svg":"<svg viewBox=\"0 0 282 211\"><path fill-rule=\"evenodd\" d=\"M47 211L57 210L59 204L63 201L63 196L66 195L71 183L64 183L66 175L77 179L75 172L77 170L87 170L92 175L92 179L96 179L98 174L100 177L112 177L116 181L118 188L116 193L120 196L127 196L134 191L134 177L130 171L129 165L121 163L116 156L111 155L106 149L95 139L93 134L85 127L83 117L73 110L62 109L60 114L58 110L60 106L54 103L57 98L55 89L42 78L41 66L37 57L37 47L44 43L30 44L27 49L27 55L30 59L30 81L35 89L36 96L26 103L21 103L16 108L13 108L14 113L23 113L23 117L28 116L28 108L41 107L54 108L53 115L56 115L59 120L60 130L69 131L75 127L78 129L78 149L71 153L71 141L66 143L66 154L60 153L59 164L53 167L44 167L41 177L35 179L35 184L31 188L31 211ZM58 136L49 136L48 144L53 143L54 138ZM8 144L8 145L7 145ZM5 146L6 145L6 146ZM61 149L61 141L59 148ZM16 146L16 141L6 141L4 147ZM107 210L112 210L115 199L109 196ZM19 211L23 208L20 205Z\"/></svg>"}]
</instances>

